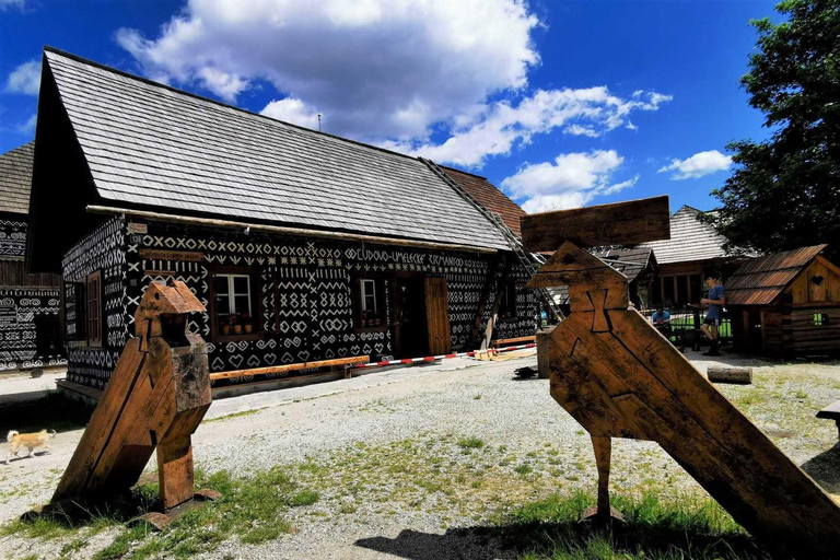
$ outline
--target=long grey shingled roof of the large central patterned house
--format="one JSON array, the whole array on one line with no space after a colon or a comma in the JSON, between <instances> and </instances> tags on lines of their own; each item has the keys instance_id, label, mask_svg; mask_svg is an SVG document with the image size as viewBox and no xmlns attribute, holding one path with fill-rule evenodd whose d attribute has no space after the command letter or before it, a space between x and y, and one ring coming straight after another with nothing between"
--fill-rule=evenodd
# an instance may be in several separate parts
<instances>
[{"instance_id":1,"label":"long grey shingled roof of the large central patterned house","mask_svg":"<svg viewBox=\"0 0 840 560\"><path fill-rule=\"evenodd\" d=\"M100 197L113 203L505 249L415 158L45 49Z\"/></svg>"}]
</instances>

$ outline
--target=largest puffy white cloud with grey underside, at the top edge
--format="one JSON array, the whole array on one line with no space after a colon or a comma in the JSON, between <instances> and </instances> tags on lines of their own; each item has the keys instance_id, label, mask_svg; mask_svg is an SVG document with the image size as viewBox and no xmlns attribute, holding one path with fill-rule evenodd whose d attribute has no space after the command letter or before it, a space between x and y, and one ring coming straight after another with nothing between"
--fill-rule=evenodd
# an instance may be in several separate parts
<instances>
[{"instance_id":1,"label":"largest puffy white cloud with grey underside, at the top edge","mask_svg":"<svg viewBox=\"0 0 840 560\"><path fill-rule=\"evenodd\" d=\"M329 132L407 140L526 86L538 24L522 0L189 0L156 38L116 40L150 78L228 101L268 81Z\"/></svg>"}]
</instances>

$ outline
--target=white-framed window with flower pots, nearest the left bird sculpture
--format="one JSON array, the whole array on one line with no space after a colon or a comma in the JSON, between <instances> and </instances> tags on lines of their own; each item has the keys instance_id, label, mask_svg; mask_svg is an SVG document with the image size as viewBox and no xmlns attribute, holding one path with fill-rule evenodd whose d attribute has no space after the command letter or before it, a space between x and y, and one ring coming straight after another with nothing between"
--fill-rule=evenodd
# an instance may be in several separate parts
<instances>
[{"instance_id":1,"label":"white-framed window with flower pots, nearest the left bird sculpture","mask_svg":"<svg viewBox=\"0 0 840 560\"><path fill-rule=\"evenodd\" d=\"M213 326L217 336L249 335L255 329L252 276L213 275Z\"/></svg>"}]
</instances>

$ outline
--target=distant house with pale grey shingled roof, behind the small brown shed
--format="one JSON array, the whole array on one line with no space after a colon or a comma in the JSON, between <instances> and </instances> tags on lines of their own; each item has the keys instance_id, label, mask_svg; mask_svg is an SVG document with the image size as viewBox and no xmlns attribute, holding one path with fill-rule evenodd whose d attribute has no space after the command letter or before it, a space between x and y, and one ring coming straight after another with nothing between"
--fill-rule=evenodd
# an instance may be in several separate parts
<instances>
[{"instance_id":1,"label":"distant house with pale grey shingled roof, behind the small brown shed","mask_svg":"<svg viewBox=\"0 0 840 560\"><path fill-rule=\"evenodd\" d=\"M701 220L702 211L684 206L670 217L670 238L643 243L656 255L658 272L651 283L652 305L685 307L704 298L703 271L715 268L724 276L749 258L724 248L726 238Z\"/></svg>"}]
</instances>

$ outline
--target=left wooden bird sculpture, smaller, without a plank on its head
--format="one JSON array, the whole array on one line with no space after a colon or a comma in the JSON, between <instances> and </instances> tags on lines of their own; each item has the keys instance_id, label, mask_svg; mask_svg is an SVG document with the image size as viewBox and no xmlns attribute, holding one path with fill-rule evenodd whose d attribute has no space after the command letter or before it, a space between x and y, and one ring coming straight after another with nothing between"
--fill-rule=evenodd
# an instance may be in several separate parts
<instances>
[{"instance_id":1,"label":"left wooden bird sculpture, smaller, without a plank on its head","mask_svg":"<svg viewBox=\"0 0 840 560\"><path fill-rule=\"evenodd\" d=\"M155 447L163 511L194 498L190 436L212 399L207 345L187 334L187 314L203 311L184 282L149 285L54 503L129 490Z\"/></svg>"}]
</instances>

